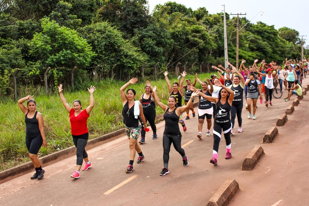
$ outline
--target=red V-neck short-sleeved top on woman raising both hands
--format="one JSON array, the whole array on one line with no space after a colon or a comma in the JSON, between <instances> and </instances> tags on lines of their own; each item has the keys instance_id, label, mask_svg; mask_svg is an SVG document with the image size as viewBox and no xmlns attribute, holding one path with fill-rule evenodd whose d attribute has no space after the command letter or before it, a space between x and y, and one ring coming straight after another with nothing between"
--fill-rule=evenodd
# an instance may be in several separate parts
<instances>
[{"instance_id":1,"label":"red V-neck short-sleeved top on woman raising both hands","mask_svg":"<svg viewBox=\"0 0 309 206\"><path fill-rule=\"evenodd\" d=\"M70 122L71 122L71 132L73 135L81 135L88 132L87 119L89 114L87 114L86 109L84 109L78 116L74 114L75 110L72 108L70 111Z\"/></svg>"}]
</instances>

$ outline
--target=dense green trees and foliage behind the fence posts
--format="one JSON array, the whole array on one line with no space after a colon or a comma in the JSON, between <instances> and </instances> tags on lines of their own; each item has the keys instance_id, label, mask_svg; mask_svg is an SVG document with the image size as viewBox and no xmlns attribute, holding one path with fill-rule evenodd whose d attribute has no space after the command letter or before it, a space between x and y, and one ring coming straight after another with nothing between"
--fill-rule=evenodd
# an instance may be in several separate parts
<instances>
[{"instance_id":1,"label":"dense green trees and foliage behind the fence posts","mask_svg":"<svg viewBox=\"0 0 309 206\"><path fill-rule=\"evenodd\" d=\"M236 17L226 14L229 61L235 63ZM295 29L239 19L239 59L282 62L300 58L301 42ZM50 67L49 87L57 81L70 85L77 66L77 82L100 78L153 78L166 65L187 68L223 63L222 12L186 8L166 2L149 11L147 0L2 0L0 6L0 94L12 95L12 75L19 85L43 85ZM305 49L305 55L308 50ZM186 63L188 62L188 63ZM98 66L99 65L99 66ZM97 74L93 72L97 69ZM31 77L31 81L29 78ZM83 85L82 85L83 86ZM75 86L74 88L81 88ZM53 92L53 91L51 91Z\"/></svg>"}]
</instances>

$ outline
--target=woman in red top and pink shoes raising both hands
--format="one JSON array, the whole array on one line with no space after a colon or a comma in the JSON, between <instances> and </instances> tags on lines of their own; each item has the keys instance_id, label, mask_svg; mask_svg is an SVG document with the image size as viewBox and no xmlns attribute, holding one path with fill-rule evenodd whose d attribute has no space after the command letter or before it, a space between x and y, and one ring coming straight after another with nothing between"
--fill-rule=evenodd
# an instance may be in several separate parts
<instances>
[{"instance_id":1,"label":"woman in red top and pink shoes raising both hands","mask_svg":"<svg viewBox=\"0 0 309 206\"><path fill-rule=\"evenodd\" d=\"M88 159L88 154L85 150L88 141L88 128L87 128L87 119L93 107L95 106L95 100L93 98L93 92L96 90L95 86L90 87L88 89L90 95L90 105L82 110L82 104L79 100L75 100L73 102L73 108L66 102L62 94L62 84L58 86L58 91L60 94L61 102L64 107L66 107L66 111L70 113L70 122L71 122L71 132L74 145L76 147L76 170L71 175L71 178L79 178L79 170L82 167L83 159L86 164L83 167L83 170L88 170L91 167L91 163Z\"/></svg>"}]
</instances>

